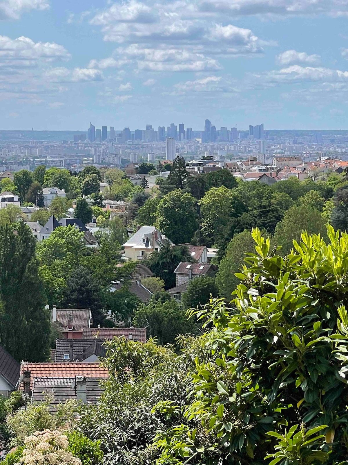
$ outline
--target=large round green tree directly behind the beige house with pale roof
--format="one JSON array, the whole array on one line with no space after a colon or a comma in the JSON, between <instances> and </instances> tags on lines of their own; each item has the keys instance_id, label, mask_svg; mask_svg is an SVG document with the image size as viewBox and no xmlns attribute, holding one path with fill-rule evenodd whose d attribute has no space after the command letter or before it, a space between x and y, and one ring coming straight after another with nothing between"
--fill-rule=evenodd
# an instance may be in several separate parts
<instances>
[{"instance_id":1,"label":"large round green tree directly behind the beige house with pale roof","mask_svg":"<svg viewBox=\"0 0 348 465\"><path fill-rule=\"evenodd\" d=\"M156 226L174 243L190 242L198 227L192 195L175 189L164 196L157 207Z\"/></svg>"}]
</instances>

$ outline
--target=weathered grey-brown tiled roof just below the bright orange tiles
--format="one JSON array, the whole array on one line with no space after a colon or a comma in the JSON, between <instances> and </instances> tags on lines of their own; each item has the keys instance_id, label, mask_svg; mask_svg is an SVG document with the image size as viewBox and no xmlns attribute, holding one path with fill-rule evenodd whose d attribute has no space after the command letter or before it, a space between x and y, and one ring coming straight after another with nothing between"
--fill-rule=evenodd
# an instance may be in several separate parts
<instances>
[{"instance_id":1,"label":"weathered grey-brown tiled roof just below the bright orange tiles","mask_svg":"<svg viewBox=\"0 0 348 465\"><path fill-rule=\"evenodd\" d=\"M86 385L86 403L95 404L103 392L103 385L98 378L86 378L83 382ZM54 397L50 410L54 411L57 409L59 403L69 399L78 399L76 384L75 377L35 377L32 384L32 402L45 400L45 391L52 391Z\"/></svg>"}]
</instances>

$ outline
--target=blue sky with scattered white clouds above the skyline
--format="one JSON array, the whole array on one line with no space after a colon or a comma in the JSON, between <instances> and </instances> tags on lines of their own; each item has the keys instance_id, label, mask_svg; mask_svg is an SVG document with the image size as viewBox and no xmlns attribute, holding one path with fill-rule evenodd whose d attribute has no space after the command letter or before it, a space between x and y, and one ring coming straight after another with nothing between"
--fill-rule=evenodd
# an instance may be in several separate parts
<instances>
[{"instance_id":1,"label":"blue sky with scattered white clouds above the skyline","mask_svg":"<svg viewBox=\"0 0 348 465\"><path fill-rule=\"evenodd\" d=\"M348 0L0 0L0 129L347 129Z\"/></svg>"}]
</instances>

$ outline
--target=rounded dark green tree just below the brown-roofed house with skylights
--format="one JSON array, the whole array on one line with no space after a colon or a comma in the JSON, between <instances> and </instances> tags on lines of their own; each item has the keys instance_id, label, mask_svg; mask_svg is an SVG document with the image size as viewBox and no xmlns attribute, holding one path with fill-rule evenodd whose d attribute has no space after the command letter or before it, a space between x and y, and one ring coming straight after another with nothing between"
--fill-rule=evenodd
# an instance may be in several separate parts
<instances>
[{"instance_id":1,"label":"rounded dark green tree just below the brown-roofed house with skylights","mask_svg":"<svg viewBox=\"0 0 348 465\"><path fill-rule=\"evenodd\" d=\"M182 294L182 304L185 308L202 308L211 297L218 297L219 289L215 284L215 278L202 276L191 279L186 292Z\"/></svg>"}]
</instances>

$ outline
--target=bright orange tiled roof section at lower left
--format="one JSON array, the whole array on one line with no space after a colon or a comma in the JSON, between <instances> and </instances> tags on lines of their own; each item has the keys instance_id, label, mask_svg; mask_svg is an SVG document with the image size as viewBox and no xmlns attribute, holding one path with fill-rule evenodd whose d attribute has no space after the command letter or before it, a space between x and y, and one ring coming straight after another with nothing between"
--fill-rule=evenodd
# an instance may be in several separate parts
<instances>
[{"instance_id":1,"label":"bright orange tiled roof section at lower left","mask_svg":"<svg viewBox=\"0 0 348 465\"><path fill-rule=\"evenodd\" d=\"M75 378L76 376L109 378L108 370L99 363L25 363L20 365L20 374L24 374L25 371L31 373L31 388L34 378ZM23 389L23 382L19 385L19 389Z\"/></svg>"}]
</instances>

